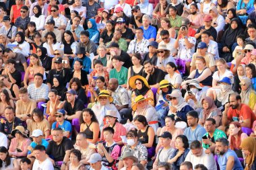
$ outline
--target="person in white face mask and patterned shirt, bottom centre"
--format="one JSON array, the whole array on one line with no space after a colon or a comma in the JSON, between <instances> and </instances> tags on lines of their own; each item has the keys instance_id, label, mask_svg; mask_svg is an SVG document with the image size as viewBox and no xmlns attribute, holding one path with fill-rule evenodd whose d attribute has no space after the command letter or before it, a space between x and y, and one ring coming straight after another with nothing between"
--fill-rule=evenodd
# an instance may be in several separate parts
<instances>
[{"instance_id":1,"label":"person in white face mask and patterned shirt, bottom centre","mask_svg":"<svg viewBox=\"0 0 256 170\"><path fill-rule=\"evenodd\" d=\"M137 131L129 130L126 134L127 137L127 145L122 148L121 157L123 157L124 153L129 151L133 153L133 156L141 163L142 165L146 165L148 162L148 151L146 146L139 142ZM119 160L119 168L124 166L123 160Z\"/></svg>"}]
</instances>

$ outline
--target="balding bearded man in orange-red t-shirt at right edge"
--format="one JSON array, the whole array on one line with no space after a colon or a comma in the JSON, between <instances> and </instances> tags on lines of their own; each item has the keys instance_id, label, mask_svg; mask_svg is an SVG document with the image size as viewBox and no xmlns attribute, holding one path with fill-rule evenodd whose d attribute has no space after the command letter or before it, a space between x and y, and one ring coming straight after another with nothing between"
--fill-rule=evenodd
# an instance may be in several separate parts
<instances>
[{"instance_id":1,"label":"balding bearded man in orange-red t-shirt at right edge","mask_svg":"<svg viewBox=\"0 0 256 170\"><path fill-rule=\"evenodd\" d=\"M230 122L238 121L243 128L252 128L255 120L256 116L251 108L241 103L241 96L238 93L231 93L222 116L223 126L228 126Z\"/></svg>"}]
</instances>

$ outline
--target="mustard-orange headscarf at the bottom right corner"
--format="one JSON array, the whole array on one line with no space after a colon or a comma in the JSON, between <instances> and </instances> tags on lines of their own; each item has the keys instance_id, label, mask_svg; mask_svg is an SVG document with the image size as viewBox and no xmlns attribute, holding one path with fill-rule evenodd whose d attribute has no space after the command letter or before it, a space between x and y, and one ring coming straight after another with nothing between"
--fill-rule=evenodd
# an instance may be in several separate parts
<instances>
[{"instance_id":1,"label":"mustard-orange headscarf at the bottom right corner","mask_svg":"<svg viewBox=\"0 0 256 170\"><path fill-rule=\"evenodd\" d=\"M250 170L256 157L256 138L253 136L245 138L240 145L241 148L247 149L251 155L245 157L245 170Z\"/></svg>"}]
</instances>

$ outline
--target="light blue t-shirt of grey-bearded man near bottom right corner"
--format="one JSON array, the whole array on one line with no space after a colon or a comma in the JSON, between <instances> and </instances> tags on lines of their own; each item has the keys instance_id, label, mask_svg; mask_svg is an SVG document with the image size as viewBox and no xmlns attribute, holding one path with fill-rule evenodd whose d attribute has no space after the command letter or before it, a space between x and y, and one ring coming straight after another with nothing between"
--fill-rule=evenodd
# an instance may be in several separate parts
<instances>
[{"instance_id":1,"label":"light blue t-shirt of grey-bearded man near bottom right corner","mask_svg":"<svg viewBox=\"0 0 256 170\"><path fill-rule=\"evenodd\" d=\"M218 155L218 164L220 165L220 170L226 169L226 163L228 162L228 157L234 157L234 166L232 169L234 170L243 170L241 162L239 161L236 153L230 149L224 153L224 155Z\"/></svg>"}]
</instances>

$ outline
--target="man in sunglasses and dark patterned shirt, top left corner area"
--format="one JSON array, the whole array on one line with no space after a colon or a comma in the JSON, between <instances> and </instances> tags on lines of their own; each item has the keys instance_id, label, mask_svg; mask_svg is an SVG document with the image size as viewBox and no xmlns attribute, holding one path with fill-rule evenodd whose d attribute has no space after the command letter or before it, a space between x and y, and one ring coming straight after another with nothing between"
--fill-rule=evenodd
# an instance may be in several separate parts
<instances>
[{"instance_id":1,"label":"man in sunglasses and dark patterned shirt, top left corner area","mask_svg":"<svg viewBox=\"0 0 256 170\"><path fill-rule=\"evenodd\" d=\"M26 5L22 6L20 9L20 17L17 17L15 20L15 27L20 27L26 29L28 27L28 23L30 22L30 17L28 17L28 7Z\"/></svg>"}]
</instances>

